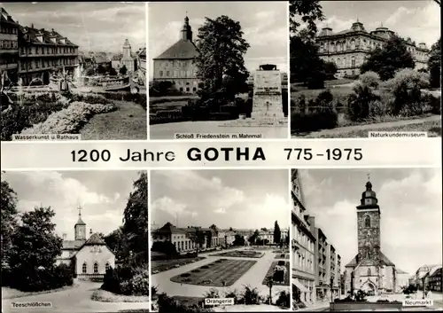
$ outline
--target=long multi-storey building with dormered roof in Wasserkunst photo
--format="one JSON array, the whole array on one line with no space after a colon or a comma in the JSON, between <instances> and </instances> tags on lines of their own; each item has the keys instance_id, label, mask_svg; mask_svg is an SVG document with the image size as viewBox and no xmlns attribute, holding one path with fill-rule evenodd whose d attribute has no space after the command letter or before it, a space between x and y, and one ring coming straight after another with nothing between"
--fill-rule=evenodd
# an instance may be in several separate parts
<instances>
[{"instance_id":1,"label":"long multi-storey building with dormered roof in Wasserkunst photo","mask_svg":"<svg viewBox=\"0 0 443 313\"><path fill-rule=\"evenodd\" d=\"M78 46L44 28L19 27L19 79L23 85L50 83L52 74L74 74L79 66Z\"/></svg>"}]
</instances>

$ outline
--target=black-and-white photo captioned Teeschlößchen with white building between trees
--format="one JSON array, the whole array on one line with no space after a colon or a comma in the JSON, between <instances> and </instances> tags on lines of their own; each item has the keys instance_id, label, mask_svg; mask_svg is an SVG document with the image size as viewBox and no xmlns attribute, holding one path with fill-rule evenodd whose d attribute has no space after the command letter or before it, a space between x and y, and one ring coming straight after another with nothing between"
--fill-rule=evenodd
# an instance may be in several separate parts
<instances>
[{"instance_id":1,"label":"black-and-white photo captioned Teeschl\u00f6\u00dfchen with white building between trees","mask_svg":"<svg viewBox=\"0 0 443 313\"><path fill-rule=\"evenodd\" d=\"M148 312L147 192L145 171L3 172L2 311Z\"/></svg>"}]
</instances>

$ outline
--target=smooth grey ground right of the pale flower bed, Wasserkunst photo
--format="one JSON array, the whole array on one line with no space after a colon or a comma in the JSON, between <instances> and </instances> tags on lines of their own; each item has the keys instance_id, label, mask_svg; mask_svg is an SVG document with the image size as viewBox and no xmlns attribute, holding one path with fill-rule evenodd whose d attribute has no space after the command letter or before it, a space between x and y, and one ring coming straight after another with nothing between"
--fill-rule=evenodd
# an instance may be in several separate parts
<instances>
[{"instance_id":1,"label":"smooth grey ground right of the pale flower bed, Wasserkunst photo","mask_svg":"<svg viewBox=\"0 0 443 313\"><path fill-rule=\"evenodd\" d=\"M97 114L80 130L82 140L146 140L147 114L134 102L114 100L118 110Z\"/></svg>"}]
</instances>

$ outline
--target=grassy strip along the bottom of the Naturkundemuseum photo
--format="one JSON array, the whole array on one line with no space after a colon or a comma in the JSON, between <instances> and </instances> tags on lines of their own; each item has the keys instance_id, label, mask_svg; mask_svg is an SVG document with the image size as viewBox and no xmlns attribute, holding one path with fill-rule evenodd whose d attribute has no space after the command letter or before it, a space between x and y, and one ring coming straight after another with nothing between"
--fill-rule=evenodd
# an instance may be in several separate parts
<instances>
[{"instance_id":1,"label":"grassy strip along the bottom of the Naturkundemuseum photo","mask_svg":"<svg viewBox=\"0 0 443 313\"><path fill-rule=\"evenodd\" d=\"M377 128L377 124L374 124L374 129L335 131L331 132L330 134L311 133L310 135L306 136L306 138L364 138L368 137L369 131L426 131L428 133L428 137L441 137L441 121L424 121L416 124L385 128Z\"/></svg>"}]
</instances>

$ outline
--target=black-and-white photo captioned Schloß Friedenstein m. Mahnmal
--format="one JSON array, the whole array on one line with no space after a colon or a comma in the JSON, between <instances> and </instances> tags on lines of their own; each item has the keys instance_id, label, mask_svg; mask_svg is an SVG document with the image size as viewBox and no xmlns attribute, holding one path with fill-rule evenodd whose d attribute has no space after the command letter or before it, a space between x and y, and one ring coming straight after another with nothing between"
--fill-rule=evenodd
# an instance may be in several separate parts
<instances>
[{"instance_id":1,"label":"black-and-white photo captioned Schlo\u00df Friedenstein m. Mahnmal","mask_svg":"<svg viewBox=\"0 0 443 313\"><path fill-rule=\"evenodd\" d=\"M148 16L151 139L288 138L288 3L149 3Z\"/></svg>"}]
</instances>

